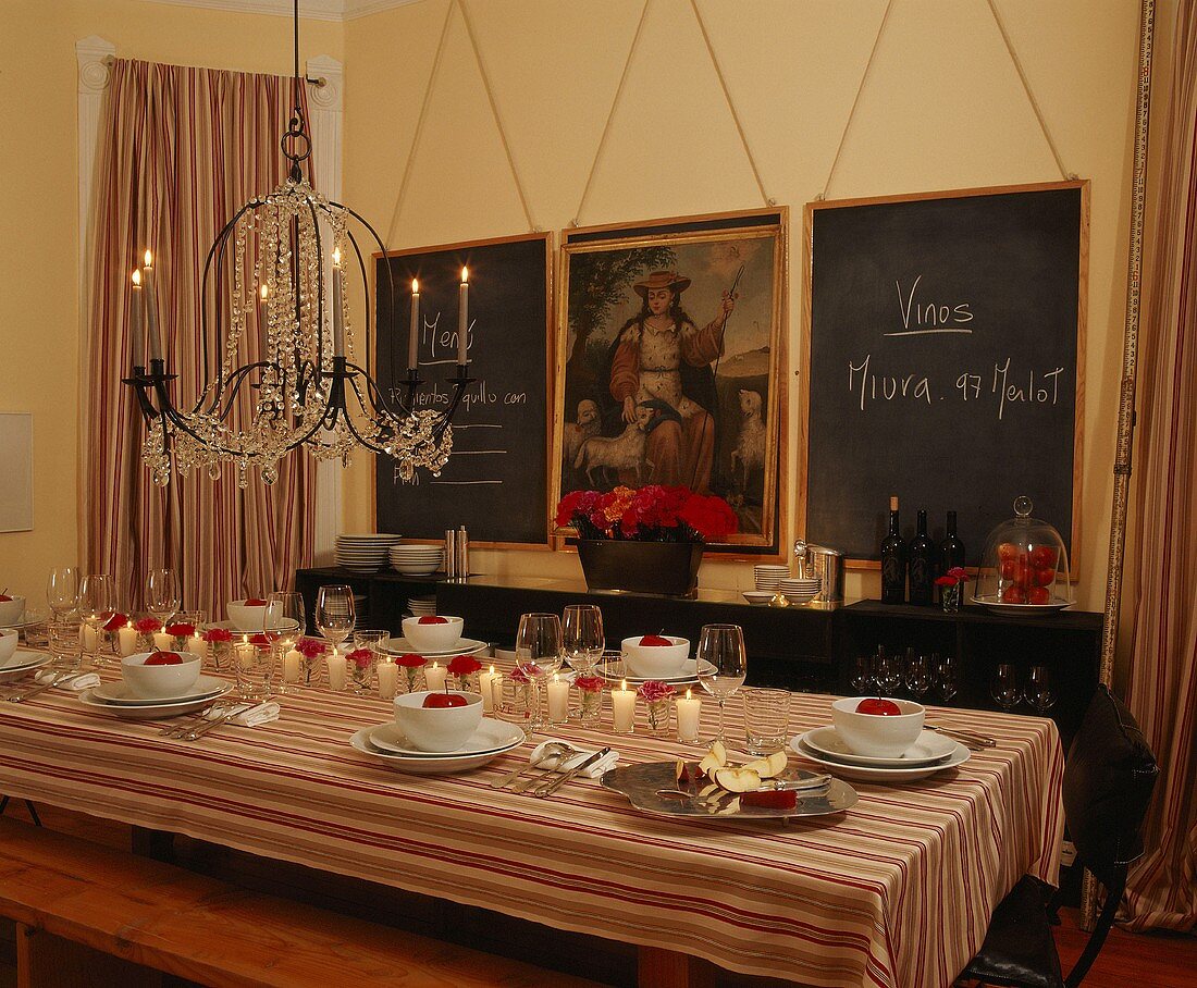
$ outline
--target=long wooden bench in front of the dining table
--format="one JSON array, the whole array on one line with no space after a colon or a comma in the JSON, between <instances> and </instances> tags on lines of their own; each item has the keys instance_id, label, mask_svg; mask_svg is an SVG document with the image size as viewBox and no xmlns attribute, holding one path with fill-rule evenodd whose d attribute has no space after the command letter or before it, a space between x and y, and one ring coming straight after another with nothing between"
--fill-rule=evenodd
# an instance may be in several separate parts
<instances>
[{"instance_id":1,"label":"long wooden bench in front of the dining table","mask_svg":"<svg viewBox=\"0 0 1197 988\"><path fill-rule=\"evenodd\" d=\"M236 889L183 868L0 819L0 916L19 988L509 986L595 982Z\"/></svg>"}]
</instances>

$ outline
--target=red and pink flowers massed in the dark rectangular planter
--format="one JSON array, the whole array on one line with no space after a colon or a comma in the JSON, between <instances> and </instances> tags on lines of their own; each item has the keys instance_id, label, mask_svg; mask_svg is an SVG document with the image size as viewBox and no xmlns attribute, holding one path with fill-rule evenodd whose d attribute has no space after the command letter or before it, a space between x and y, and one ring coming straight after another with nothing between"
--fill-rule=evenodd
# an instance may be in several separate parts
<instances>
[{"instance_id":1,"label":"red and pink flowers massed in the dark rectangular planter","mask_svg":"<svg viewBox=\"0 0 1197 988\"><path fill-rule=\"evenodd\" d=\"M734 534L739 521L722 497L649 484L636 490L571 491L557 505L557 526L572 526L583 539L712 543Z\"/></svg>"}]
</instances>

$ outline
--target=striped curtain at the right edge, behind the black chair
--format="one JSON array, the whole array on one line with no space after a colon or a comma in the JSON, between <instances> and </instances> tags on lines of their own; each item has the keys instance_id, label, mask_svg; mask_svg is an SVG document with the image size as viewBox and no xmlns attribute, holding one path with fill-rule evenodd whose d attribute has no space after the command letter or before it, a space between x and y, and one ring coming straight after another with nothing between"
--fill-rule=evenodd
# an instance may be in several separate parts
<instances>
[{"instance_id":1,"label":"striped curtain at the right edge, behind the black chair","mask_svg":"<svg viewBox=\"0 0 1197 988\"><path fill-rule=\"evenodd\" d=\"M1140 337L1138 559L1128 699L1160 762L1131 929L1197 927L1197 10L1177 7ZM1166 110L1166 113L1163 113ZM1161 119L1162 117L1162 119Z\"/></svg>"}]
</instances>

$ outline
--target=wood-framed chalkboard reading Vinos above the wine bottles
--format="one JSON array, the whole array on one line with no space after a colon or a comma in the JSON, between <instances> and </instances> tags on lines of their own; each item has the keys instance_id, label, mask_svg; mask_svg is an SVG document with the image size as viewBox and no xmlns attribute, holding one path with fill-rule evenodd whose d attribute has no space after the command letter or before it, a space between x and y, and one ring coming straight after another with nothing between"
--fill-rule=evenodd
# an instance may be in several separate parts
<instances>
[{"instance_id":1,"label":"wood-framed chalkboard reading Vinos above the wine bottles","mask_svg":"<svg viewBox=\"0 0 1197 988\"><path fill-rule=\"evenodd\" d=\"M875 560L948 510L970 564L1027 495L1075 557L1087 181L807 207L800 525Z\"/></svg>"}]
</instances>

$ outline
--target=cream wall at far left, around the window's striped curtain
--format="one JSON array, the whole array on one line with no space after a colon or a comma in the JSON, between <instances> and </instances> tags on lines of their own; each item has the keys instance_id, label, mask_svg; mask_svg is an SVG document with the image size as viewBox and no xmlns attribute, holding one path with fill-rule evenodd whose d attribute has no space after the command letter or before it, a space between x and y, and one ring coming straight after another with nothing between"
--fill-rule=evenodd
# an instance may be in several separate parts
<instances>
[{"instance_id":1,"label":"cream wall at far left, around the window's striped curtain","mask_svg":"<svg viewBox=\"0 0 1197 988\"><path fill-rule=\"evenodd\" d=\"M0 0L0 412L34 414L32 532L0 534L0 589L44 606L77 559L78 83L74 44L121 57L291 73L286 18L145 0ZM340 24L305 22L302 56L341 57Z\"/></svg>"}]
</instances>

